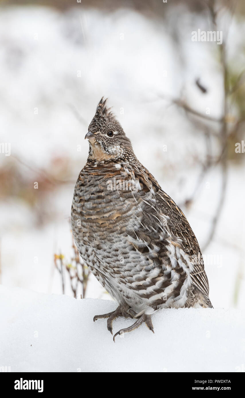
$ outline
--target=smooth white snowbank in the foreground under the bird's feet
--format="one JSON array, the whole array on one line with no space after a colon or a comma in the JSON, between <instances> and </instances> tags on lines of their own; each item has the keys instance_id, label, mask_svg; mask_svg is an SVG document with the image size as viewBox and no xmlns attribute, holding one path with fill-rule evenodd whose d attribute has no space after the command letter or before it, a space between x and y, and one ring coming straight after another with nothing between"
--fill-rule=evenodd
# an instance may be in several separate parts
<instances>
[{"instance_id":1,"label":"smooth white snowbank in the foreground under the bird's feet","mask_svg":"<svg viewBox=\"0 0 245 398\"><path fill-rule=\"evenodd\" d=\"M106 320L116 302L45 295L0 286L0 367L41 372L237 372L245 363L241 310L169 309L145 325L112 335ZM118 318L113 331L133 321Z\"/></svg>"}]
</instances>

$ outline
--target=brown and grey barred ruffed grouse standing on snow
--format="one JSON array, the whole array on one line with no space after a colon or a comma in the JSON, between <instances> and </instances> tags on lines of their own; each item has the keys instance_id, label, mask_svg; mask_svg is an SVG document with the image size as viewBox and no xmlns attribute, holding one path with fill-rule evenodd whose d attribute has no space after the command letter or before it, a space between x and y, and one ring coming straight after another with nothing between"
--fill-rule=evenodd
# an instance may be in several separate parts
<instances>
[{"instance_id":1,"label":"brown and grey barred ruffed grouse standing on snow","mask_svg":"<svg viewBox=\"0 0 245 398\"><path fill-rule=\"evenodd\" d=\"M106 100L85 139L89 155L74 189L71 224L78 251L118 308L98 318L135 318L160 308L212 307L202 254L186 217L136 158ZM114 339L115 339L114 336Z\"/></svg>"}]
</instances>

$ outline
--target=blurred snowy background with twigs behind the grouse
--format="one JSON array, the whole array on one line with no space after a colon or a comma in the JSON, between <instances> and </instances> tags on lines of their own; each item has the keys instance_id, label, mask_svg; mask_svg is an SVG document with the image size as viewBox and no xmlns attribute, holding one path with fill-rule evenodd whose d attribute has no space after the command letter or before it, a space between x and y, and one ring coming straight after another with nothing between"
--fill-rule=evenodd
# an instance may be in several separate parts
<instances>
[{"instance_id":1,"label":"blurred snowy background with twigs behind the grouse","mask_svg":"<svg viewBox=\"0 0 245 398\"><path fill-rule=\"evenodd\" d=\"M2 1L0 43L0 283L62 293L56 254L73 295L73 189L105 96L186 214L212 304L244 308L243 0ZM110 298L92 275L86 297Z\"/></svg>"}]
</instances>

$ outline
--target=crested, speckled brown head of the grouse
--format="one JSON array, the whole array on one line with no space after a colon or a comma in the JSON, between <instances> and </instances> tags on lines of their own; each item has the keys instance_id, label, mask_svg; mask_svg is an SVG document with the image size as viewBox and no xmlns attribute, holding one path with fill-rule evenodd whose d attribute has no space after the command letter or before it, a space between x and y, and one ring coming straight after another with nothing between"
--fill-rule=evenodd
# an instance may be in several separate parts
<instances>
[{"instance_id":1,"label":"crested, speckled brown head of the grouse","mask_svg":"<svg viewBox=\"0 0 245 398\"><path fill-rule=\"evenodd\" d=\"M102 97L85 135L89 140L88 157L98 162L132 158L131 142L106 102Z\"/></svg>"}]
</instances>

